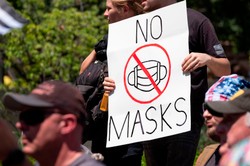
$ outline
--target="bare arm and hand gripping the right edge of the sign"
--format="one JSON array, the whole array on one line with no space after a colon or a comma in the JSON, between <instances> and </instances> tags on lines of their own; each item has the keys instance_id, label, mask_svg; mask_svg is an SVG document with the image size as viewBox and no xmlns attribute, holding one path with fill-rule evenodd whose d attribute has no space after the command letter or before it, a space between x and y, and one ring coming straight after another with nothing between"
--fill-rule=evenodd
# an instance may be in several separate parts
<instances>
[{"instance_id":1,"label":"bare arm and hand gripping the right edge of the sign","mask_svg":"<svg viewBox=\"0 0 250 166\"><path fill-rule=\"evenodd\" d=\"M190 53L182 63L183 72L192 72L195 69L205 66L214 73L215 76L231 74L230 62L227 58L215 58L205 53Z\"/></svg>"}]
</instances>

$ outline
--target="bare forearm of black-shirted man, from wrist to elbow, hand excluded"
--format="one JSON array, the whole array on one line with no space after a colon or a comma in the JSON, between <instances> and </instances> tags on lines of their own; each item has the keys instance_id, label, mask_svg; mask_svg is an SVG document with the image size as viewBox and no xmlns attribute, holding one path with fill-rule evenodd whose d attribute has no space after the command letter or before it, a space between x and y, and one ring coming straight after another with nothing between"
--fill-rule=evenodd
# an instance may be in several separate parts
<instances>
[{"instance_id":1,"label":"bare forearm of black-shirted man, from wrist to elbow, hand excluded","mask_svg":"<svg viewBox=\"0 0 250 166\"><path fill-rule=\"evenodd\" d=\"M215 58L211 56L210 61L207 63L207 67L217 77L231 74L230 62L227 58Z\"/></svg>"}]
</instances>

